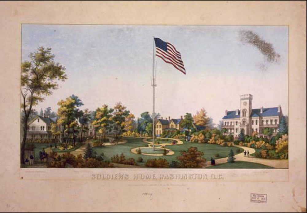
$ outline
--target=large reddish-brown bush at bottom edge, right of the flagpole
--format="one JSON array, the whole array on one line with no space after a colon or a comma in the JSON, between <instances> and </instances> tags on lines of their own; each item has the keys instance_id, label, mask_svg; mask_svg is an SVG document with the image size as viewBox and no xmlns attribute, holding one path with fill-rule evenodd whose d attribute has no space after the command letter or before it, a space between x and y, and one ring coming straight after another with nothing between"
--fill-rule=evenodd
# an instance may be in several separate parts
<instances>
[{"instance_id":1,"label":"large reddish-brown bush at bottom edge, right of the flagpole","mask_svg":"<svg viewBox=\"0 0 307 213\"><path fill-rule=\"evenodd\" d=\"M180 161L180 168L202 168L206 159L202 156L204 152L200 152L196 147L190 147L188 151L180 151L181 156L177 157Z\"/></svg>"}]
</instances>

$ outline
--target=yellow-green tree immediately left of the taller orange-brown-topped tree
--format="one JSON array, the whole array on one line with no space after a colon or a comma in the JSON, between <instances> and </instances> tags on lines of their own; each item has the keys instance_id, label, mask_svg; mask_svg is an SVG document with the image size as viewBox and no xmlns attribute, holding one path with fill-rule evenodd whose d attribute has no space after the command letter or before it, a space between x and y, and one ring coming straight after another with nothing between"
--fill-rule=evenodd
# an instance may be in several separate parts
<instances>
[{"instance_id":1,"label":"yellow-green tree immediately left of the taller orange-brown-topped tree","mask_svg":"<svg viewBox=\"0 0 307 213\"><path fill-rule=\"evenodd\" d=\"M113 123L113 111L114 109L108 108L108 105L103 105L101 108L96 109L95 120L92 124L95 126L96 131L104 135L104 142L106 142L106 134Z\"/></svg>"}]
</instances>

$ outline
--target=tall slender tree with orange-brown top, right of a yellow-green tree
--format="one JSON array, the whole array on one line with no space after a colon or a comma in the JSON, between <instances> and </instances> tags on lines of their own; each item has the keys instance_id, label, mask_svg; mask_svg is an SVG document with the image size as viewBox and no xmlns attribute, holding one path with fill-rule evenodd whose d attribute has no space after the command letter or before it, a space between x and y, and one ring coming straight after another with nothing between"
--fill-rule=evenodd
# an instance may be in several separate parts
<instances>
[{"instance_id":1,"label":"tall slender tree with orange-brown top, right of a yellow-green tree","mask_svg":"<svg viewBox=\"0 0 307 213\"><path fill-rule=\"evenodd\" d=\"M129 115L129 111L126 110L126 107L122 105L121 102L116 103L113 111L113 121L115 128L115 138L116 141L119 141L119 135L122 131L122 125L125 122L126 117Z\"/></svg>"}]
</instances>

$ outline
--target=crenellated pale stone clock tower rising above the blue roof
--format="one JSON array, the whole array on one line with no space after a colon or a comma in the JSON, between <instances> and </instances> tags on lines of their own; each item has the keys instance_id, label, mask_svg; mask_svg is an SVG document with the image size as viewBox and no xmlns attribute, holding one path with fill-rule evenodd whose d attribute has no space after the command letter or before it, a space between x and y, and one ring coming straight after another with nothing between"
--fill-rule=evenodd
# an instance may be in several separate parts
<instances>
[{"instance_id":1,"label":"crenellated pale stone clock tower rising above the blue roof","mask_svg":"<svg viewBox=\"0 0 307 213\"><path fill-rule=\"evenodd\" d=\"M250 135L251 132L251 112L253 96L245 94L240 96L240 131Z\"/></svg>"}]
</instances>

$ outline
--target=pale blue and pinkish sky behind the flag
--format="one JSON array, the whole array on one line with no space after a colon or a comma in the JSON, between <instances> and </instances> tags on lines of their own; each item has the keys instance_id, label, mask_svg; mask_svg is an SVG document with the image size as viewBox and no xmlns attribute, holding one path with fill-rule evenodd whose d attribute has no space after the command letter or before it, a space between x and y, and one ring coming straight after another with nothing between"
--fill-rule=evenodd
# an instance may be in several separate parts
<instances>
[{"instance_id":1,"label":"pale blue and pinkish sky behind the flag","mask_svg":"<svg viewBox=\"0 0 307 213\"><path fill-rule=\"evenodd\" d=\"M252 30L281 56L268 63L260 51L239 39ZM152 112L153 37L172 43L186 75L157 58L156 112L174 118L204 107L215 123L224 110L239 107L239 96L254 96L253 108L287 106L286 26L120 26L22 25L22 61L37 47L51 47L68 79L37 109L75 94L84 108L121 101L137 117ZM266 71L260 69L266 66Z\"/></svg>"}]
</instances>

